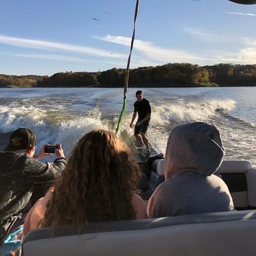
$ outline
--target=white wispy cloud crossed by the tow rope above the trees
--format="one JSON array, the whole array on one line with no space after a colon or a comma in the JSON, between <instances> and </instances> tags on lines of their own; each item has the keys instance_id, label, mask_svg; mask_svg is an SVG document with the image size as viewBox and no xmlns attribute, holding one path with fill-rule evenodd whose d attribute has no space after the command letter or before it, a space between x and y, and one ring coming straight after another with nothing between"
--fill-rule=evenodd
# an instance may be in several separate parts
<instances>
[{"instance_id":1,"label":"white wispy cloud crossed by the tow rope above the trees","mask_svg":"<svg viewBox=\"0 0 256 256\"><path fill-rule=\"evenodd\" d=\"M103 41L108 41L112 43L119 43L124 46L130 46L130 38L126 36L111 36L107 35L105 37L98 38ZM170 50L166 48L161 48L155 46L154 43L148 41L135 40L134 46L136 50L140 51L142 55L156 60L159 62L194 62L195 60L210 60L208 58L201 58L191 53L187 53L182 50Z\"/></svg>"}]
</instances>

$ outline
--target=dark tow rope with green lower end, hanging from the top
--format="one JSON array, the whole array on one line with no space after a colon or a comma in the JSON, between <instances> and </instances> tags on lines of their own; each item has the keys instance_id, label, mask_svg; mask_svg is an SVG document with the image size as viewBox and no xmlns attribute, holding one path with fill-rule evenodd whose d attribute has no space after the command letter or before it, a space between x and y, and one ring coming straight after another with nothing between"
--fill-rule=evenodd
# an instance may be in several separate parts
<instances>
[{"instance_id":1,"label":"dark tow rope with green lower end, hanging from the top","mask_svg":"<svg viewBox=\"0 0 256 256\"><path fill-rule=\"evenodd\" d=\"M132 51L133 51L133 42L135 39L135 27L136 27L136 20L137 20L137 11L139 10L139 3L140 3L140 0L137 0L136 8L135 8L135 15L134 15L134 22L133 22L133 37L132 37L132 41L130 42L130 54L128 57L128 62L127 62L127 67L126 67L126 78L124 81L124 88L123 88L123 107L122 107L121 113L119 115L119 121L117 122L116 134L119 131L119 126L120 126L120 123L122 120L123 112L126 109L126 93L127 93L128 83L129 83L130 56L132 55Z\"/></svg>"}]
</instances>

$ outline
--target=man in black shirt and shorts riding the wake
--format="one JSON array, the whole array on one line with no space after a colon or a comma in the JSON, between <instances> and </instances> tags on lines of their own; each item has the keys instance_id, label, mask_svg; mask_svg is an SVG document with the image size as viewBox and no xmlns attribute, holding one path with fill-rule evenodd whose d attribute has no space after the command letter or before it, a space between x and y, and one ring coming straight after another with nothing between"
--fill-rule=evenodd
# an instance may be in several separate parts
<instances>
[{"instance_id":1,"label":"man in black shirt and shorts riding the wake","mask_svg":"<svg viewBox=\"0 0 256 256\"><path fill-rule=\"evenodd\" d=\"M137 101L134 103L134 112L132 121L130 121L130 128L133 128L133 121L138 114L139 117L137 119L137 123L135 124L134 135L139 141L138 146L142 147L144 142L145 146L147 147L147 153L150 153L149 141L147 139L146 132L147 126L149 126L151 107L149 101L143 97L142 90L137 90L135 96L137 97Z\"/></svg>"}]
</instances>

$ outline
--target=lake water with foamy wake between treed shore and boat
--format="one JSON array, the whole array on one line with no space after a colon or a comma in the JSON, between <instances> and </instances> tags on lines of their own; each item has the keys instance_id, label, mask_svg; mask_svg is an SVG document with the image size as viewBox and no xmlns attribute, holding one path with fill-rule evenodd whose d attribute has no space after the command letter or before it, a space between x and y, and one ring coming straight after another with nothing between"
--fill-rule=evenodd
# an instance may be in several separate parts
<instances>
[{"instance_id":1,"label":"lake water with foamy wake between treed shore and boat","mask_svg":"<svg viewBox=\"0 0 256 256\"><path fill-rule=\"evenodd\" d=\"M136 90L128 88L120 126L129 134ZM177 124L206 121L219 128L225 159L247 159L256 165L256 88L142 90L151 103L148 135L157 150L165 152ZM27 127L36 132L39 147L60 142L69 154L79 137L93 128L114 131L122 105L123 88L0 88L0 147L11 131Z\"/></svg>"}]
</instances>

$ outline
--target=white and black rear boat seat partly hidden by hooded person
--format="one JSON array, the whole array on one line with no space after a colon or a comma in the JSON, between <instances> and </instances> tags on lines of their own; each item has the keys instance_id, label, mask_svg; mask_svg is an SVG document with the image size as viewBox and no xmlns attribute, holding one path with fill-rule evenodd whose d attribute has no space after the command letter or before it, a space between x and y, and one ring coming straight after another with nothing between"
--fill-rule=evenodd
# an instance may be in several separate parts
<instances>
[{"instance_id":1,"label":"white and black rear boat seat partly hidden by hooded person","mask_svg":"<svg viewBox=\"0 0 256 256\"><path fill-rule=\"evenodd\" d=\"M256 168L250 161L225 160L215 175L226 182L237 210L256 208ZM154 163L149 181L151 191L164 181L164 159Z\"/></svg>"}]
</instances>

